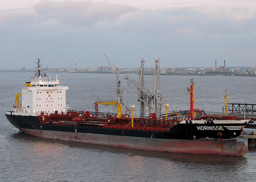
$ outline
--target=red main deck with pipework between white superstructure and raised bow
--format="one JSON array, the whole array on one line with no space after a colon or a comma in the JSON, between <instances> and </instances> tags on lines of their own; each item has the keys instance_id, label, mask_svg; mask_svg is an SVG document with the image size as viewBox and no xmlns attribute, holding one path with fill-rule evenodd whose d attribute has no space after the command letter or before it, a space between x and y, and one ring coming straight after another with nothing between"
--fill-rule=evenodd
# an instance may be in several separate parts
<instances>
[{"instance_id":1,"label":"red main deck with pipework between white superstructure and raised bow","mask_svg":"<svg viewBox=\"0 0 256 182\"><path fill-rule=\"evenodd\" d=\"M95 115L78 114L78 112L68 112L68 114L48 114L42 112L38 115L42 124L54 124L54 125L76 125L87 127L103 127L103 128L116 128L127 130L144 130L144 131L169 131L174 125L178 124L181 120L175 119L148 119L148 118L134 118L134 127L131 126L131 118L128 116L96 117Z\"/></svg>"}]
</instances>

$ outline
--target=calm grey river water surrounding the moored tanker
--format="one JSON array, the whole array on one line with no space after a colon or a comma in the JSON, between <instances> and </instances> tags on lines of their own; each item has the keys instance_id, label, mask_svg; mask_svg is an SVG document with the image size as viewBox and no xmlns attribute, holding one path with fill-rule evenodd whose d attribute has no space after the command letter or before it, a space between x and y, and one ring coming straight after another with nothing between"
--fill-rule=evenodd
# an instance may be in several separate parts
<instances>
[{"instance_id":1,"label":"calm grey river water surrounding the moored tanker","mask_svg":"<svg viewBox=\"0 0 256 182\"><path fill-rule=\"evenodd\" d=\"M11 110L14 96L31 75L0 72L0 181L256 181L255 149L249 149L245 158L236 158L131 150L19 134L4 111ZM55 74L49 75L55 78ZM116 99L112 74L58 73L58 78L61 85L69 86L67 102L74 109L91 111L97 98ZM201 110L222 111L225 89L230 103L232 98L233 103L256 103L255 77L161 76L163 101L170 110L189 109L191 78L196 84L196 108ZM145 80L151 88L152 78L145 76ZM137 99L129 94L127 102L138 113ZM99 110L107 111L103 106Z\"/></svg>"}]
</instances>

